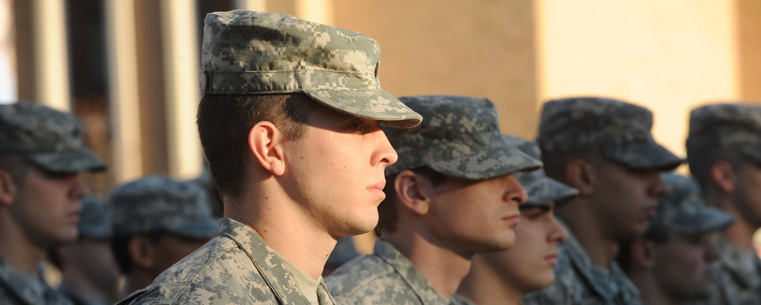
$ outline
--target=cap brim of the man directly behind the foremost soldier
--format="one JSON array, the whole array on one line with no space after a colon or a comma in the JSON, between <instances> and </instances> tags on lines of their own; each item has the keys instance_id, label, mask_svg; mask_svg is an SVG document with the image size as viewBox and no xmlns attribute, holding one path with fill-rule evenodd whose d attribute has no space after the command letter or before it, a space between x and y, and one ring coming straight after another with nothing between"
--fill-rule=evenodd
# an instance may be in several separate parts
<instances>
[{"instance_id":1,"label":"cap brim of the man directly behind the foremost soldier","mask_svg":"<svg viewBox=\"0 0 761 305\"><path fill-rule=\"evenodd\" d=\"M507 143L501 143L467 156L448 160L432 160L426 165L447 176L483 180L517 171L536 170L542 167L542 162L515 147L507 145Z\"/></svg>"}]
</instances>

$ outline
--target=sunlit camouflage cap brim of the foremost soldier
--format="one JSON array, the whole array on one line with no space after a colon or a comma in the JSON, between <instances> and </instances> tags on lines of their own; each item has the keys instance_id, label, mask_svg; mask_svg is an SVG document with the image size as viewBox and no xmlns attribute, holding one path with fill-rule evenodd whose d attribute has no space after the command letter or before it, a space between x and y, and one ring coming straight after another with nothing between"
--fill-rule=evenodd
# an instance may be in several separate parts
<instances>
[{"instance_id":1,"label":"sunlit camouflage cap brim of the foremost soldier","mask_svg":"<svg viewBox=\"0 0 761 305\"><path fill-rule=\"evenodd\" d=\"M383 90L304 90L312 99L349 115L373 119L396 128L411 128L423 117Z\"/></svg>"}]
</instances>

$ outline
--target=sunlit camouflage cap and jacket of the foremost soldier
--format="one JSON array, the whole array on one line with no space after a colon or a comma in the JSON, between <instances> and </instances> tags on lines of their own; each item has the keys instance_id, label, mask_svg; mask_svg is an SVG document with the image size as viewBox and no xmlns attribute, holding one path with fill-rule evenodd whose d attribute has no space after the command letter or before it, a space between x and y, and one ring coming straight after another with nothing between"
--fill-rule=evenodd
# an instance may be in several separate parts
<instances>
[{"instance_id":1,"label":"sunlit camouflage cap and jacket of the foremost soldier","mask_svg":"<svg viewBox=\"0 0 761 305\"><path fill-rule=\"evenodd\" d=\"M329 108L387 126L422 117L380 88L378 43L359 33L249 11L206 16L205 94L303 93ZM256 203L252 203L256 204ZM248 226L220 221L219 235L121 304L306 304L287 263ZM333 304L324 284L320 304Z\"/></svg>"}]
</instances>

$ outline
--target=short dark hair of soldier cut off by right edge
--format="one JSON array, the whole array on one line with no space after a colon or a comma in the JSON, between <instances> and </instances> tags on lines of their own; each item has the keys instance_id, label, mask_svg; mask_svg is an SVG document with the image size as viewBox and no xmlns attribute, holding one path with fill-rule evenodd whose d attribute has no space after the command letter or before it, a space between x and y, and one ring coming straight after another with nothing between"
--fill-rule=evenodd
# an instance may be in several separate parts
<instances>
[{"instance_id":1,"label":"short dark hair of soldier cut off by right edge","mask_svg":"<svg viewBox=\"0 0 761 305\"><path fill-rule=\"evenodd\" d=\"M702 190L711 186L711 167L718 161L729 163L734 172L739 172L749 162L746 157L730 148L689 150L687 163L690 166L690 173L698 181Z\"/></svg>"}]
</instances>

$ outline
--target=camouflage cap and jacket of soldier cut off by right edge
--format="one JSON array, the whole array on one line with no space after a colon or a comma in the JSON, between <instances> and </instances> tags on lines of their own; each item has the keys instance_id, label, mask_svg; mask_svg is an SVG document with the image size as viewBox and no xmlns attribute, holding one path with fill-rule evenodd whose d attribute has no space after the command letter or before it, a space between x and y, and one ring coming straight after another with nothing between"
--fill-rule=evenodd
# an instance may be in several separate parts
<instances>
[{"instance_id":1,"label":"camouflage cap and jacket of soldier cut off by right edge","mask_svg":"<svg viewBox=\"0 0 761 305\"><path fill-rule=\"evenodd\" d=\"M712 104L690 114L687 156L695 152L732 151L761 162L761 107ZM758 187L758 186L752 186ZM721 258L717 286L704 304L761 304L761 262L753 250L742 250L726 239L718 243Z\"/></svg>"}]
</instances>

